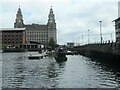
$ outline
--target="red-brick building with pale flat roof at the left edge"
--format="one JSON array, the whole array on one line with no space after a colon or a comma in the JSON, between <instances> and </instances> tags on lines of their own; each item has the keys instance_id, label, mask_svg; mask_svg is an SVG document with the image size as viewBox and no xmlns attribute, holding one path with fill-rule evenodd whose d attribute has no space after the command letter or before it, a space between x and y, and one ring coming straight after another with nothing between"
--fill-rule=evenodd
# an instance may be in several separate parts
<instances>
[{"instance_id":1,"label":"red-brick building with pale flat roof at the left edge","mask_svg":"<svg viewBox=\"0 0 120 90\"><path fill-rule=\"evenodd\" d=\"M0 28L2 48L20 48L26 42L25 28Z\"/></svg>"}]
</instances>

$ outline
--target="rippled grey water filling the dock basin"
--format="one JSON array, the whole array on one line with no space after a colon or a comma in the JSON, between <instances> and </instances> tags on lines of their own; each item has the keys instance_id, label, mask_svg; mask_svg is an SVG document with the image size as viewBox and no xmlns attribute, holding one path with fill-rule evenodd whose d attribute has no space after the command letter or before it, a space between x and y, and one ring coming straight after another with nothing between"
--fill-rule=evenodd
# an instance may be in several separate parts
<instances>
[{"instance_id":1,"label":"rippled grey water filling the dock basin","mask_svg":"<svg viewBox=\"0 0 120 90\"><path fill-rule=\"evenodd\" d=\"M120 87L120 72L90 58L68 55L66 62L58 63L53 57L29 60L27 55L2 53L3 88Z\"/></svg>"}]
</instances>

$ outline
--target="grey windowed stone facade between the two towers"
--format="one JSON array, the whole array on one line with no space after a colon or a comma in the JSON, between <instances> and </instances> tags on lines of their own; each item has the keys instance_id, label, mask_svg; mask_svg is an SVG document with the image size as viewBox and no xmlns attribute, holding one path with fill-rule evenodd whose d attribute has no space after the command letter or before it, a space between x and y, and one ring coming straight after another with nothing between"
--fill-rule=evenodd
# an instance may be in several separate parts
<instances>
[{"instance_id":1,"label":"grey windowed stone facade between the two towers","mask_svg":"<svg viewBox=\"0 0 120 90\"><path fill-rule=\"evenodd\" d=\"M41 44L47 43L47 25L32 24L26 25L26 43L31 41Z\"/></svg>"}]
</instances>

